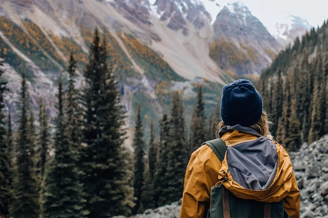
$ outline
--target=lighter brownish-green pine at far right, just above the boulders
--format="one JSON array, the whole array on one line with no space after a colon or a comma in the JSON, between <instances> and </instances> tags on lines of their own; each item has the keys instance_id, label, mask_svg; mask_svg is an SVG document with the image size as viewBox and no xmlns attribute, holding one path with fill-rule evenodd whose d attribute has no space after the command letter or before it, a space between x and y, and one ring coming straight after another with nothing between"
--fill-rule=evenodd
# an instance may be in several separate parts
<instances>
[{"instance_id":1,"label":"lighter brownish-green pine at far right, just above the boulders","mask_svg":"<svg viewBox=\"0 0 328 218\"><path fill-rule=\"evenodd\" d=\"M319 139L321 122L320 122L320 99L319 99L319 85L316 80L314 83L313 103L312 103L312 116L311 116L311 128L309 132L308 143L313 143Z\"/></svg>"}]
</instances>

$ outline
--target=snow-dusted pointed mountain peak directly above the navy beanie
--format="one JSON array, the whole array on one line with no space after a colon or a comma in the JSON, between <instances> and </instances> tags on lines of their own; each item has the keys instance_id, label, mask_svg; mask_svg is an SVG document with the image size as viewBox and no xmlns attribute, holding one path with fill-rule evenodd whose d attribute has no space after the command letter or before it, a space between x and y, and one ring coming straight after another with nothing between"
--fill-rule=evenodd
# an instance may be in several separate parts
<instances>
[{"instance_id":1,"label":"snow-dusted pointed mountain peak directly above the navy beanie","mask_svg":"<svg viewBox=\"0 0 328 218\"><path fill-rule=\"evenodd\" d=\"M223 70L237 75L260 74L282 48L264 25L240 2L222 8L213 23L210 56Z\"/></svg>"}]
</instances>

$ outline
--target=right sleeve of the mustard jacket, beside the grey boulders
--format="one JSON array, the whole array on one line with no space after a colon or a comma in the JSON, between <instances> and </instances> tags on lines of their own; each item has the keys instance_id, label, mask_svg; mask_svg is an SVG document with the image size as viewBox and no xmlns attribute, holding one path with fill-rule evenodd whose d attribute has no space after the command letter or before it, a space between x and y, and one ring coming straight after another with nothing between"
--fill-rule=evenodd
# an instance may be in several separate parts
<instances>
[{"instance_id":1,"label":"right sleeve of the mustard jacket, beside the grey boulders","mask_svg":"<svg viewBox=\"0 0 328 218\"><path fill-rule=\"evenodd\" d=\"M292 189L287 197L284 199L284 209L288 213L290 218L299 218L300 209L299 209L300 195L296 183L296 178L294 172L292 173Z\"/></svg>"}]
</instances>

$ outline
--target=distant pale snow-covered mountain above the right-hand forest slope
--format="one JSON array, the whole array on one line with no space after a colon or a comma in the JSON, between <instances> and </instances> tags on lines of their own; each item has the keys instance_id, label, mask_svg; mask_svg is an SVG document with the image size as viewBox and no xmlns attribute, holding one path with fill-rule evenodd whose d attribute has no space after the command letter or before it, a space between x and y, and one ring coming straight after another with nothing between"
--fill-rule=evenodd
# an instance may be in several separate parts
<instances>
[{"instance_id":1,"label":"distant pale snow-covered mountain above the right-hand forest slope","mask_svg":"<svg viewBox=\"0 0 328 218\"><path fill-rule=\"evenodd\" d=\"M297 36L301 37L312 28L313 26L306 19L290 15L277 22L274 28L272 28L272 33L278 42L286 46L292 43Z\"/></svg>"}]
</instances>

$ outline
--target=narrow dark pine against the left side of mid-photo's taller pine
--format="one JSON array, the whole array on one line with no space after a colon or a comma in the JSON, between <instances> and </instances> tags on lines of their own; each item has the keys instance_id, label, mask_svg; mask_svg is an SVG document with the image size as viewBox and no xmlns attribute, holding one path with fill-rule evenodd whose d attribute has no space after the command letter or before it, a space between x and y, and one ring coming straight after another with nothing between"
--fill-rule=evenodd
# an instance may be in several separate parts
<instances>
[{"instance_id":1,"label":"narrow dark pine against the left side of mid-photo's taller pine","mask_svg":"<svg viewBox=\"0 0 328 218\"><path fill-rule=\"evenodd\" d=\"M162 206L165 203L165 196L162 196L163 189L168 188L168 181L163 175L167 172L167 159L168 159L168 144L170 137L170 120L167 115L164 114L160 121L160 148L158 152L158 161L156 164L155 175L154 175L154 187L155 187L155 207ZM164 198L164 200L163 200Z\"/></svg>"}]
</instances>

